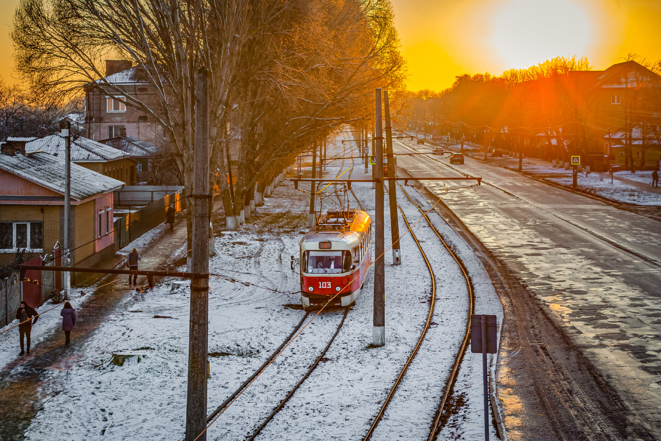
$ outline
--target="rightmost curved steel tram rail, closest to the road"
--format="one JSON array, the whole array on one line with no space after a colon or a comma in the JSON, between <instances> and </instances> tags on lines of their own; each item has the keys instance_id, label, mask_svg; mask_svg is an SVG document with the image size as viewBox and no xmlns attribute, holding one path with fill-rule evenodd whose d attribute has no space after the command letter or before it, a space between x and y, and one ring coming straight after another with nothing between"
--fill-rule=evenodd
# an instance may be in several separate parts
<instances>
[{"instance_id":1,"label":"rightmost curved steel tram rail, closest to the road","mask_svg":"<svg viewBox=\"0 0 661 441\"><path fill-rule=\"evenodd\" d=\"M400 188L402 186L400 185ZM427 216L426 212L418 206L412 200L410 196L408 196L408 193L404 188L402 188L402 191L404 194L407 196L408 200L418 208L418 211L424 216L425 220L427 221L428 225L432 228L432 231L436 233L438 236L438 239L440 239L441 243L443 243L443 246L447 249L447 252L450 253L452 258L457 262L459 265L459 268L461 268L461 274L463 274L463 278L466 280L466 286L468 288L468 298L469 298L469 306L468 306L468 314L467 314L467 319L466 319L466 331L463 336L463 341L461 342L461 346L459 346L459 351L457 352L457 356L455 357L455 362L452 366L452 370L450 371L450 374L446 380L446 389L443 391L443 396L441 397L441 401L438 404L438 409L436 409L436 415L434 417L434 422L432 423L432 427L430 428L429 436L427 438L428 441L433 441L436 436L438 435L436 432L438 432L438 425L440 424L441 417L443 415L443 411L445 410L446 404L447 404L447 399L449 398L450 392L452 391L452 388L454 386L455 381L457 380L457 374L459 374L459 367L461 366L461 360L463 360L463 356L466 353L466 349L468 347L469 343L469 336L470 336L470 331L471 331L471 322L470 322L470 317L471 314L473 314L474 309L475 309L475 291L473 290L473 282L471 282L471 278L468 274L468 270L466 269L465 265L459 259L457 254L449 247L444 239L444 237L441 235L441 233L438 232L438 229L434 227L434 224L432 221L429 219Z\"/></svg>"}]
</instances>

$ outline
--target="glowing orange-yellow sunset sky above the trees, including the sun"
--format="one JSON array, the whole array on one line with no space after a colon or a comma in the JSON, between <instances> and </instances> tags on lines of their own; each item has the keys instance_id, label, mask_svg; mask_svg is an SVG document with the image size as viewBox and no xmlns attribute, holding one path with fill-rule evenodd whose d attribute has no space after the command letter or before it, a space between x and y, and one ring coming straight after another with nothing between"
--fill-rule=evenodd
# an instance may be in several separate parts
<instances>
[{"instance_id":1,"label":"glowing orange-yellow sunset sky above the trees, including the sun","mask_svg":"<svg viewBox=\"0 0 661 441\"><path fill-rule=\"evenodd\" d=\"M629 52L661 59L661 0L391 0L408 87L444 89L456 75L499 75L559 55L605 69ZM13 77L9 26L19 0L0 0L0 76Z\"/></svg>"}]
</instances>

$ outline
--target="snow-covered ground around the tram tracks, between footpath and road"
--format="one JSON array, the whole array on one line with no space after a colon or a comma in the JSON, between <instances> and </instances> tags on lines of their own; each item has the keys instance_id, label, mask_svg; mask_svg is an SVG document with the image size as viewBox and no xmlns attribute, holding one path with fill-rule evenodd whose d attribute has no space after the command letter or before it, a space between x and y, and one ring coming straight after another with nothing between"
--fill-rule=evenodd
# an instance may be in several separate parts
<instances>
[{"instance_id":1,"label":"snow-covered ground around the tram tracks, between footpath and road","mask_svg":"<svg viewBox=\"0 0 661 441\"><path fill-rule=\"evenodd\" d=\"M342 152L339 141L331 154ZM348 153L348 151L347 151ZM326 176L334 176L334 161ZM344 167L348 167L345 161ZM362 177L356 163L352 177ZM344 175L344 177L346 177ZM364 207L373 214L370 184L354 184ZM210 272L272 288L210 279L208 408L222 403L290 334L304 311L299 309L298 241L307 230L309 194L286 182L266 198L259 217L239 231L215 239L217 255ZM422 204L415 190L412 197ZM352 201L353 202L353 201ZM418 210L399 195L411 223ZM387 204L387 198L386 198ZM388 215L386 206L385 214ZM268 216L266 218L265 216ZM401 215L400 215L401 216ZM481 262L467 244L432 212L432 221L464 260L476 290L476 312L502 309ZM389 219L385 237L389 246ZM400 231L405 227L399 219ZM436 276L434 325L407 372L373 439L426 439L461 342L467 314L467 290L457 264L433 231L421 220L414 232L426 250ZM153 238L145 237L142 246ZM332 344L325 360L297 390L258 439L355 440L362 438L389 388L407 360L428 313L431 279L410 235L401 239L403 264L389 266L386 252L386 346L371 342L373 272ZM178 440L184 434L188 363L189 292L171 291L170 280L144 294L126 296L108 321L66 366L54 369L44 382L47 397L26 431L30 440L139 439ZM77 304L74 304L77 307ZM167 318L154 318L161 316ZM319 355L334 333L342 311L323 311L300 337L211 426L210 440L242 440L272 411ZM44 316L58 327L59 315ZM8 343L0 342L0 354ZM111 353L136 351L124 366L110 363ZM4 357L3 357L4 358ZM494 363L492 363L494 365ZM442 439L476 439L483 433L481 355L467 353L455 385L454 409ZM477 385L477 388L475 387ZM494 437L492 431L490 436Z\"/></svg>"}]
</instances>

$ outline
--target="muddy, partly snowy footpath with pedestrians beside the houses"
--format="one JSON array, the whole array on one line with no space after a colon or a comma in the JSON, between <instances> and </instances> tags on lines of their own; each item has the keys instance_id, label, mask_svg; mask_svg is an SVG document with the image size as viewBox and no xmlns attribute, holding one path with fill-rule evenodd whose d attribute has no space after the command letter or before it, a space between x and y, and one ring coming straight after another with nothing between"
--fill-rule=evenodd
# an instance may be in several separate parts
<instances>
[{"instance_id":1,"label":"muddy, partly snowy footpath with pedestrians beside the houses","mask_svg":"<svg viewBox=\"0 0 661 441\"><path fill-rule=\"evenodd\" d=\"M214 212L222 206L214 203ZM145 233L126 248L136 247L142 257L139 268L165 269L167 266L179 265L185 259L186 251L186 218L178 216L174 231L161 224ZM126 249L124 249L126 251ZM120 252L121 253L121 252ZM182 254L180 254L182 253ZM180 254L180 255L178 255ZM104 266L114 267L118 258L108 259ZM185 262L185 260L183 260ZM108 282L111 282L108 284ZM138 276L138 284L146 285L144 276ZM106 285L107 284L107 285ZM65 348L64 333L61 331L61 317L57 307L44 313L32 328L32 352L19 356L19 329L15 328L2 335L0 339L0 356L4 359L0 371L0 424L1 440L23 439L23 432L40 409L44 399L44 391L50 389L50 374L54 371L71 370L77 365L79 354L84 352L85 344L95 331L102 326L112 313L124 308L124 301L130 300L127 294L144 296L137 293L128 284L125 275L110 275L97 283L100 287L84 288L90 294L72 300L76 309L76 325L71 332L71 346ZM80 288L75 288L78 291ZM72 292L71 297L79 294ZM40 307L40 312L53 307L46 303Z\"/></svg>"}]
</instances>

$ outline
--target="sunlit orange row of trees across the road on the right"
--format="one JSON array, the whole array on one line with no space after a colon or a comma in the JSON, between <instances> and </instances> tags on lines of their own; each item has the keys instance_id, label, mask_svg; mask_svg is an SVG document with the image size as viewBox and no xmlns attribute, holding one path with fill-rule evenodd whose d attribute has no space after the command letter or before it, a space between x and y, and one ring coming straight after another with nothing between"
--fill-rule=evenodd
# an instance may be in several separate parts
<instances>
[{"instance_id":1,"label":"sunlit orange row of trees across the road on the right","mask_svg":"<svg viewBox=\"0 0 661 441\"><path fill-rule=\"evenodd\" d=\"M661 61L650 63L633 54L626 61L641 68L627 71L626 87L610 89L621 94L617 108L603 104L603 97L600 101L599 92L591 89L600 73L592 71L586 58L558 57L500 76L461 75L440 93L425 89L411 94L416 116L410 124L438 124L443 133L465 134L485 145L492 134L502 134L515 151L522 149L522 136L544 134L547 154L565 161L572 153L603 154L602 137L624 130L627 165L633 165L631 145L639 131L648 140L642 145L661 145Z\"/></svg>"}]
</instances>

